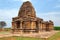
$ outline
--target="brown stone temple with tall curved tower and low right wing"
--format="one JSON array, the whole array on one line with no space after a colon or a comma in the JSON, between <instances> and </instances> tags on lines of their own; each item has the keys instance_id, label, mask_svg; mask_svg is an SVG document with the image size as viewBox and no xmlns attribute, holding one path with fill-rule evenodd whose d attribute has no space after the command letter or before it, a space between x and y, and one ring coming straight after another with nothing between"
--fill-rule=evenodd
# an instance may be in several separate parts
<instances>
[{"instance_id":1,"label":"brown stone temple with tall curved tower and low right wing","mask_svg":"<svg viewBox=\"0 0 60 40\"><path fill-rule=\"evenodd\" d=\"M52 31L53 29L54 24L51 20L44 21L36 17L36 11L29 1L24 2L18 16L12 18L12 32L40 33L40 31Z\"/></svg>"}]
</instances>

